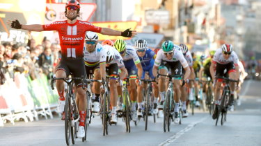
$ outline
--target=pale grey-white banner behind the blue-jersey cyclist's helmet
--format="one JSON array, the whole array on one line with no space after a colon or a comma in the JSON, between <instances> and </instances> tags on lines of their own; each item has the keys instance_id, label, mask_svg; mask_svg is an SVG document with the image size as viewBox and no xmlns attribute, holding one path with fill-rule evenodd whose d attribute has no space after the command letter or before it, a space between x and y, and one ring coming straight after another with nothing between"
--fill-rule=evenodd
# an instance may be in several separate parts
<instances>
[{"instance_id":1,"label":"pale grey-white banner behind the blue-jersey cyclist's helmet","mask_svg":"<svg viewBox=\"0 0 261 146\"><path fill-rule=\"evenodd\" d=\"M156 48L163 38L164 35L159 33L138 33L135 37L132 37L132 39L129 39L126 42L134 45L136 40L145 39L148 42L148 47Z\"/></svg>"}]
</instances>

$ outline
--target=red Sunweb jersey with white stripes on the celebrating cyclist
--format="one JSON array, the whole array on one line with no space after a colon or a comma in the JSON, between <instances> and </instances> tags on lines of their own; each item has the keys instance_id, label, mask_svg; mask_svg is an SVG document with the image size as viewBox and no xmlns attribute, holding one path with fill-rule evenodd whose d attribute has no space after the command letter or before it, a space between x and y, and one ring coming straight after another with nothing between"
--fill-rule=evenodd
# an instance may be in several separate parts
<instances>
[{"instance_id":1,"label":"red Sunweb jersey with white stripes on the celebrating cyclist","mask_svg":"<svg viewBox=\"0 0 261 146\"><path fill-rule=\"evenodd\" d=\"M42 25L44 30L58 31L62 57L84 57L84 38L86 31L100 33L102 28L93 26L88 21L77 20L68 24L67 20L54 21L52 24Z\"/></svg>"}]
</instances>

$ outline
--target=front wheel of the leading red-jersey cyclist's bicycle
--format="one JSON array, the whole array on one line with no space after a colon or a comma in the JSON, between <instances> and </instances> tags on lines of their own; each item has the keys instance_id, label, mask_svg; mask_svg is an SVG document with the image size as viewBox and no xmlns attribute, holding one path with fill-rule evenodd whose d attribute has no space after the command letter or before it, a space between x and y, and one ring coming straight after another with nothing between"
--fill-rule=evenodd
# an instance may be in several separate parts
<instances>
[{"instance_id":1,"label":"front wheel of the leading red-jersey cyclist's bicycle","mask_svg":"<svg viewBox=\"0 0 261 146\"><path fill-rule=\"evenodd\" d=\"M70 102L70 96L67 94L66 95L66 99L65 99L65 107L64 107L64 112L65 112L65 140L66 140L66 144L70 145L70 136L71 136L71 106L70 106L71 102Z\"/></svg>"}]
</instances>

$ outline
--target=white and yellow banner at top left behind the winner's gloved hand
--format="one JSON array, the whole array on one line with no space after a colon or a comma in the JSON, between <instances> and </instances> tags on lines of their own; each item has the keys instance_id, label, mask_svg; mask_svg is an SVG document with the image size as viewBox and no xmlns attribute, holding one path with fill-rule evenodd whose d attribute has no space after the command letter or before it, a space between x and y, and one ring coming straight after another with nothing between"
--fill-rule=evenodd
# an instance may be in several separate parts
<instances>
[{"instance_id":1,"label":"white and yellow banner at top left behind the winner's gloved hand","mask_svg":"<svg viewBox=\"0 0 261 146\"><path fill-rule=\"evenodd\" d=\"M7 21L18 19L21 24L43 24L46 0L1 0L0 1L0 40L26 44L27 30L10 28ZM42 33L32 32L36 42L42 41Z\"/></svg>"}]
</instances>

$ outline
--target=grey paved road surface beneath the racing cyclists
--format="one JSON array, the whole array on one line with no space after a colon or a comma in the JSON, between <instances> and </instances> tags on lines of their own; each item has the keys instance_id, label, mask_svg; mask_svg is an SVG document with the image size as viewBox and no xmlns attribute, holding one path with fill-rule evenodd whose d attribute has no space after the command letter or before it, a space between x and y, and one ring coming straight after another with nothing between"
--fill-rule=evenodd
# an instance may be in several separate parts
<instances>
[{"instance_id":1,"label":"grey paved road surface beneath the racing cyclists","mask_svg":"<svg viewBox=\"0 0 261 146\"><path fill-rule=\"evenodd\" d=\"M93 118L88 129L88 140L77 139L75 145L261 145L261 82L247 80L242 87L242 105L228 113L225 125L214 125L208 113L196 111L194 116L182 119L182 125L171 124L171 131L164 133L163 119L156 123L149 119L148 131L144 122L125 132L121 118L109 127L109 135L102 136L99 116ZM0 127L0 145L66 145L64 123L56 117L36 122L15 122Z\"/></svg>"}]
</instances>

